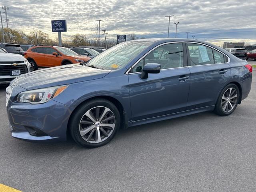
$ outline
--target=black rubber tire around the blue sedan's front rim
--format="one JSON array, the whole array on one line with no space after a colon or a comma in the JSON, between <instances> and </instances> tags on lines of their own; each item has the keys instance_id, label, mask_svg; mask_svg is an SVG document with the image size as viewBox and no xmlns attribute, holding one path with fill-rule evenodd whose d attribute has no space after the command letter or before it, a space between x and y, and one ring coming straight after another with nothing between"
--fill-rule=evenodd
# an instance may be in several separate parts
<instances>
[{"instance_id":1,"label":"black rubber tire around the blue sedan's front rim","mask_svg":"<svg viewBox=\"0 0 256 192\"><path fill-rule=\"evenodd\" d=\"M116 118L116 126L115 126L112 134L106 140L104 140L103 142L94 144L94 143L86 142L82 138L82 136L80 135L80 132L79 132L79 123L80 123L82 116L84 116L84 114L88 110L90 110L91 108L94 108L96 106L104 106L104 107L107 107L110 110L112 110L112 112L114 113L114 116ZM76 143L78 143L81 146L87 147L87 148L100 147L100 146L107 144L108 142L110 142L110 140L112 140L112 138L114 138L116 132L118 131L118 129L120 127L120 113L119 113L118 109L116 108L116 106L108 100L105 100L105 99L91 100L90 102L86 102L85 104L82 104L82 106L80 106L74 112L74 114L71 117L69 125L70 125L70 133L72 135L72 138L76 141Z\"/></svg>"}]
</instances>

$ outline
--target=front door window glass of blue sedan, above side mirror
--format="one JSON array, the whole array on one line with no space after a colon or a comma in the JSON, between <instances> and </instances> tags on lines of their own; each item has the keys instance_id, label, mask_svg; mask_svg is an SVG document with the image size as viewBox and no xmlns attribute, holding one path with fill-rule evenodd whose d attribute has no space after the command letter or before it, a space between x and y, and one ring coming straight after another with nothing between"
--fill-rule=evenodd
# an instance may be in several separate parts
<instances>
[{"instance_id":1,"label":"front door window glass of blue sedan, above side mirror","mask_svg":"<svg viewBox=\"0 0 256 192\"><path fill-rule=\"evenodd\" d=\"M142 72L143 66L147 63L158 63L161 65L161 69L183 67L184 52L182 43L170 43L159 46L138 62L129 73Z\"/></svg>"}]
</instances>

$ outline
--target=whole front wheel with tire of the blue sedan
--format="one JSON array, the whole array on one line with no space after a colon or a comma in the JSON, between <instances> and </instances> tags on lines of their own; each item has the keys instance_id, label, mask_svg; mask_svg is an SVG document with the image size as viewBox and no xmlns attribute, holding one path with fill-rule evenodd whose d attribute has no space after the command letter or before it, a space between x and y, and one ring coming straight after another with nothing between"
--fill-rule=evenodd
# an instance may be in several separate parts
<instances>
[{"instance_id":1,"label":"whole front wheel with tire of the blue sedan","mask_svg":"<svg viewBox=\"0 0 256 192\"><path fill-rule=\"evenodd\" d=\"M87 148L100 147L112 140L120 127L120 113L105 99L82 104L70 119L72 138Z\"/></svg>"}]
</instances>

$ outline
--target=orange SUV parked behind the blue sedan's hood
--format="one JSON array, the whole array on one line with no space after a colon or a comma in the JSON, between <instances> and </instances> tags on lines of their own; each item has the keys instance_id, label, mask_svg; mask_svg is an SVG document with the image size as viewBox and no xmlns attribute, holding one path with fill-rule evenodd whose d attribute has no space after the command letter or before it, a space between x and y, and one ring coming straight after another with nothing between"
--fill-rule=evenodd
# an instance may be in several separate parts
<instances>
[{"instance_id":1,"label":"orange SUV parked behind the blue sedan's hood","mask_svg":"<svg viewBox=\"0 0 256 192\"><path fill-rule=\"evenodd\" d=\"M90 57L78 55L69 48L62 46L38 45L30 47L24 54L31 65L30 71L40 67L55 67L90 60Z\"/></svg>"}]
</instances>

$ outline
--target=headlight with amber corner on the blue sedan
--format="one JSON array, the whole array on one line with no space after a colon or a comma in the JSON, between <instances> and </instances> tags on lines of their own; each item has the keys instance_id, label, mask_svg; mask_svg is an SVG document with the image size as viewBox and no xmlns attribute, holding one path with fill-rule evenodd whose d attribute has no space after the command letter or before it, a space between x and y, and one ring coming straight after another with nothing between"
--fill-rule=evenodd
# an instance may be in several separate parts
<instances>
[{"instance_id":1,"label":"headlight with amber corner on the blue sedan","mask_svg":"<svg viewBox=\"0 0 256 192\"><path fill-rule=\"evenodd\" d=\"M56 86L56 87L24 91L18 94L17 101L24 102L24 103L31 103L31 104L45 103L48 100L56 97L67 87L68 85L64 85L64 86Z\"/></svg>"}]
</instances>

